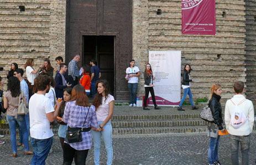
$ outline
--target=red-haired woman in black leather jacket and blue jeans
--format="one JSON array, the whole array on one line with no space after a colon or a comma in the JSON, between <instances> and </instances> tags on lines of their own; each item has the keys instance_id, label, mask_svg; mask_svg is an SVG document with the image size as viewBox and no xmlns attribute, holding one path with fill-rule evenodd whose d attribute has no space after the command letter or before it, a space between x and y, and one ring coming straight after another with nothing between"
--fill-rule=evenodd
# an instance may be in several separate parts
<instances>
[{"instance_id":1,"label":"red-haired woman in black leather jacket and blue jeans","mask_svg":"<svg viewBox=\"0 0 256 165\"><path fill-rule=\"evenodd\" d=\"M220 135L218 135L218 130L225 133L226 130L223 128L222 119L222 108L221 108L221 85L215 84L211 86L211 94L209 97L208 106L211 109L214 121L208 123L208 134L210 137L210 144L208 147L208 165L221 165L218 161L218 144L220 142Z\"/></svg>"}]
</instances>

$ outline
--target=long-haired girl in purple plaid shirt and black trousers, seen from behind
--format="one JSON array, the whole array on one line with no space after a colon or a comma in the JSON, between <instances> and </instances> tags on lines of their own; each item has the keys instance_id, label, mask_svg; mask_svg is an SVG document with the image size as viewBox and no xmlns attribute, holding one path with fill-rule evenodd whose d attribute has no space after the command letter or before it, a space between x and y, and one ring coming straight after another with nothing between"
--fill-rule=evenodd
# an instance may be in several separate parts
<instances>
[{"instance_id":1,"label":"long-haired girl in purple plaid shirt and black trousers, seen from behind","mask_svg":"<svg viewBox=\"0 0 256 165\"><path fill-rule=\"evenodd\" d=\"M86 114L88 113L86 122ZM63 122L67 123L69 128L98 128L97 116L95 106L91 106L86 96L85 89L82 85L76 85L71 92L71 101L66 103ZM75 164L85 164L88 150L92 147L92 134L91 131L82 132L82 141L68 143L64 142L63 164L72 164L73 158Z\"/></svg>"}]
</instances>

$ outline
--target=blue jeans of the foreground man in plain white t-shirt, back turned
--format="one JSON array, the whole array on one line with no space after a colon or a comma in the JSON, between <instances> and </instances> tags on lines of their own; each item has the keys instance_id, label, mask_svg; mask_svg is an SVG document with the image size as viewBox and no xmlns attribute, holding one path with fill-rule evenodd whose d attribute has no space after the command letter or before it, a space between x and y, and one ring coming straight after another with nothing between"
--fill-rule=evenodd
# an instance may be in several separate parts
<instances>
[{"instance_id":1,"label":"blue jeans of the foreground man in plain white t-shirt, back turned","mask_svg":"<svg viewBox=\"0 0 256 165\"><path fill-rule=\"evenodd\" d=\"M53 137L48 139L31 138L30 142L34 150L30 165L44 165L53 144Z\"/></svg>"}]
</instances>

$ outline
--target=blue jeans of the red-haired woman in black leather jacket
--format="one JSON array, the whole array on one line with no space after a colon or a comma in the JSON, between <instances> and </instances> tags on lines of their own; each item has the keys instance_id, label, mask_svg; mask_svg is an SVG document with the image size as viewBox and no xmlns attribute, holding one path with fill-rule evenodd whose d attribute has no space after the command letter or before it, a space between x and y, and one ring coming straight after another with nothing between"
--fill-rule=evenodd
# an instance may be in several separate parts
<instances>
[{"instance_id":1,"label":"blue jeans of the red-haired woman in black leather jacket","mask_svg":"<svg viewBox=\"0 0 256 165\"><path fill-rule=\"evenodd\" d=\"M208 148L208 163L213 164L218 160L218 143L220 142L220 136L217 138L210 137L210 144Z\"/></svg>"}]
</instances>

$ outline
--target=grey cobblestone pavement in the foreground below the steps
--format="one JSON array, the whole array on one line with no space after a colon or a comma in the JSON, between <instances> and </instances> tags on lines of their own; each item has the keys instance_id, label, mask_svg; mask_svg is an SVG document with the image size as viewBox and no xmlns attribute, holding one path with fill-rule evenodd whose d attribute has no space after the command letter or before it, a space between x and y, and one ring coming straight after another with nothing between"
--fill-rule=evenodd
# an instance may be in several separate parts
<instances>
[{"instance_id":1,"label":"grey cobblestone pavement in the foreground below the steps","mask_svg":"<svg viewBox=\"0 0 256 165\"><path fill-rule=\"evenodd\" d=\"M32 156L23 155L18 151L18 157L12 157L9 136L2 138L6 144L0 146L0 164L29 164ZM200 134L155 134L155 135L113 135L113 164L207 164L208 138ZM222 136L219 148L219 159L225 164L231 164L229 136ZM251 136L250 163L256 153L256 132ZM241 158L241 153L239 153ZM241 160L240 160L241 161ZM55 137L53 153L50 153L46 164L62 164L62 150L58 137ZM74 164L74 163L73 163ZM93 149L87 156L86 164L93 163ZM101 164L106 164L106 151L102 147Z\"/></svg>"}]
</instances>

